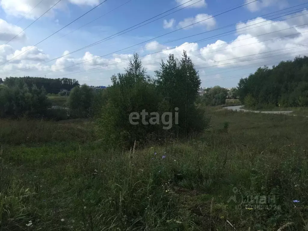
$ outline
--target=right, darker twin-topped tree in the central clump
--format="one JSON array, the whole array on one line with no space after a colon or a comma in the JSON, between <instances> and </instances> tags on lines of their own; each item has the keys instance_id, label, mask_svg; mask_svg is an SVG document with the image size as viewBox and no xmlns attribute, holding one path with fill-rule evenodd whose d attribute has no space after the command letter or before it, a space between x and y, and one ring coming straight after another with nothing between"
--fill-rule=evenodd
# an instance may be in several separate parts
<instances>
[{"instance_id":1,"label":"right, darker twin-topped tree in the central clump","mask_svg":"<svg viewBox=\"0 0 308 231\"><path fill-rule=\"evenodd\" d=\"M168 102L166 109L173 111L174 108L179 108L180 133L186 136L191 131L206 128L203 112L196 107L201 80L186 52L184 51L180 61L170 54L166 63L162 61L160 71L156 71L156 77L158 91Z\"/></svg>"}]
</instances>

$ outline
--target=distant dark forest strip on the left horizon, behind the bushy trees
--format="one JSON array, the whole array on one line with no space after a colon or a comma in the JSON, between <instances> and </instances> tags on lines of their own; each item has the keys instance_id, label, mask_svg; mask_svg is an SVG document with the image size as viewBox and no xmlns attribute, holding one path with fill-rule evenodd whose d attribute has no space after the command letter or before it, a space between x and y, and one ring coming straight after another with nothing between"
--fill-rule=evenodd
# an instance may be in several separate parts
<instances>
[{"instance_id":1,"label":"distant dark forest strip on the left horizon, behind the bushy trees","mask_svg":"<svg viewBox=\"0 0 308 231\"><path fill-rule=\"evenodd\" d=\"M0 80L1 83L1 80ZM70 91L73 87L79 86L79 82L76 79L58 78L48 79L41 77L6 77L3 81L8 87L20 86L26 83L28 87L35 85L38 88L43 87L47 93L58 94L61 90Z\"/></svg>"}]
</instances>

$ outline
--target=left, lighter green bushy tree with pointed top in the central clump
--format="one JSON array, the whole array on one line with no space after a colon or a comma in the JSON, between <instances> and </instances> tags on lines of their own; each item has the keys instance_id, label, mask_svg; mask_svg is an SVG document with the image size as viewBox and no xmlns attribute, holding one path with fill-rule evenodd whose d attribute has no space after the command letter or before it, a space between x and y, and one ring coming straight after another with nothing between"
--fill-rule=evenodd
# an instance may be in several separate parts
<instances>
[{"instance_id":1,"label":"left, lighter green bushy tree with pointed top in the central clump","mask_svg":"<svg viewBox=\"0 0 308 231\"><path fill-rule=\"evenodd\" d=\"M144 125L141 121L132 125L129 122L132 112L160 112L162 101L156 86L145 75L139 56L135 53L126 73L113 75L111 80L112 86L102 93L104 105L98 119L98 136L103 143L121 147L131 145L135 140L144 141L150 133L160 136L156 133L159 125ZM149 116L145 121L149 121Z\"/></svg>"}]
</instances>

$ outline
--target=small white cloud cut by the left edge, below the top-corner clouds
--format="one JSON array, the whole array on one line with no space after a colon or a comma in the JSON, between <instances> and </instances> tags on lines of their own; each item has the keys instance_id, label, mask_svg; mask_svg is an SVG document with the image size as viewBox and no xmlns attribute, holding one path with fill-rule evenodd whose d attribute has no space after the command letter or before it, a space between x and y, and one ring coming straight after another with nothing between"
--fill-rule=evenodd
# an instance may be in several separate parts
<instances>
[{"instance_id":1,"label":"small white cloud cut by the left edge, below the top-corner clouds","mask_svg":"<svg viewBox=\"0 0 308 231\"><path fill-rule=\"evenodd\" d=\"M12 25L0 18L0 41L7 42L22 31L19 26ZM26 39L25 32L20 33L14 40L23 41Z\"/></svg>"}]
</instances>

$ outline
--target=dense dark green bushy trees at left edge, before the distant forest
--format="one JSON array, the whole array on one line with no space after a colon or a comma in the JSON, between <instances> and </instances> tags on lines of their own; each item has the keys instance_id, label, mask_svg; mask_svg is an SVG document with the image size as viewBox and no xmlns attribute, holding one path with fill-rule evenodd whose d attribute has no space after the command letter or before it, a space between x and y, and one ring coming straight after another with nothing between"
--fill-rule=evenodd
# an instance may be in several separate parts
<instances>
[{"instance_id":1,"label":"dense dark green bushy trees at left edge, before the distant forest","mask_svg":"<svg viewBox=\"0 0 308 231\"><path fill-rule=\"evenodd\" d=\"M44 88L37 88L35 85L28 87L22 83L0 87L1 117L43 118L50 107Z\"/></svg>"}]
</instances>

